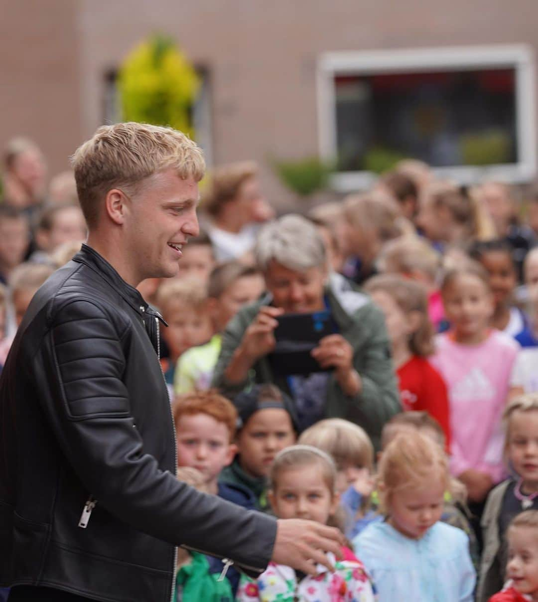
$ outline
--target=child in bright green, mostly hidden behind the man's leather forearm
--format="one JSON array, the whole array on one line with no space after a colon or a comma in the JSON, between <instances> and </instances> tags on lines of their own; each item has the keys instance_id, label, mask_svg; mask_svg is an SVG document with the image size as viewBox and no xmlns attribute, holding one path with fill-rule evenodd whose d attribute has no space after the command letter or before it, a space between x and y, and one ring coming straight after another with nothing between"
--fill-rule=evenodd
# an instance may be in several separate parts
<instances>
[{"instance_id":1,"label":"child in bright green, mostly hidden behind the man's leather forearm","mask_svg":"<svg viewBox=\"0 0 538 602\"><path fill-rule=\"evenodd\" d=\"M195 468L179 468L178 479L206 491L203 475ZM221 564L221 563L220 563ZM226 577L214 574L208 557L200 552L178 548L178 572L176 573L176 602L232 602L233 592Z\"/></svg>"}]
</instances>

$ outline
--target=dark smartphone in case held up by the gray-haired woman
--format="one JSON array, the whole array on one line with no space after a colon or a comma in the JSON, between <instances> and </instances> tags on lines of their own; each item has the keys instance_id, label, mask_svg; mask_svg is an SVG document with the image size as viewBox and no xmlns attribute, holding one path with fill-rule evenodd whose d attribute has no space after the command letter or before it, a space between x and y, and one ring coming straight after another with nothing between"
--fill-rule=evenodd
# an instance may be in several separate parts
<instances>
[{"instance_id":1,"label":"dark smartphone in case held up by the gray-haired woman","mask_svg":"<svg viewBox=\"0 0 538 602\"><path fill-rule=\"evenodd\" d=\"M275 375L310 374L332 368L321 368L311 351L320 340L338 332L338 326L328 310L309 314L283 314L276 318L276 346L268 355Z\"/></svg>"}]
</instances>

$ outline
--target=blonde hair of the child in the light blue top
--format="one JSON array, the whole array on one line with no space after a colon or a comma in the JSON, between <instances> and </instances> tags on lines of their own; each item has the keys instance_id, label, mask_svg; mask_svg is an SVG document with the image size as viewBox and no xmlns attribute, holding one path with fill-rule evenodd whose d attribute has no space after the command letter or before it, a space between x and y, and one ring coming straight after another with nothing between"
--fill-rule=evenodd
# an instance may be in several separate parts
<instances>
[{"instance_id":1,"label":"blonde hair of the child in the light blue top","mask_svg":"<svg viewBox=\"0 0 538 602\"><path fill-rule=\"evenodd\" d=\"M448 458L441 445L419 432L398 435L389 443L379 463L380 510L390 514L392 494L430 483L432 474L441 477L445 491L450 489Z\"/></svg>"}]
</instances>

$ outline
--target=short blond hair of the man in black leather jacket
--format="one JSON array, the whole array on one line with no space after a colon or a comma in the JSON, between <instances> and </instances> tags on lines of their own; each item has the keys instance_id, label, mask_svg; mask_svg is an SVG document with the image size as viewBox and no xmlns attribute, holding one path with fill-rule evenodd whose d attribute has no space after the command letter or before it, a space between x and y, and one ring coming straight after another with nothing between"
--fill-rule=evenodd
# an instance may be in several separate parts
<instances>
[{"instance_id":1,"label":"short blond hair of the man in black leather jacket","mask_svg":"<svg viewBox=\"0 0 538 602\"><path fill-rule=\"evenodd\" d=\"M197 182L205 173L202 150L187 135L135 122L101 126L76 149L71 164L90 228L96 225L100 202L112 188L125 188L134 194L144 179L166 169Z\"/></svg>"}]
</instances>

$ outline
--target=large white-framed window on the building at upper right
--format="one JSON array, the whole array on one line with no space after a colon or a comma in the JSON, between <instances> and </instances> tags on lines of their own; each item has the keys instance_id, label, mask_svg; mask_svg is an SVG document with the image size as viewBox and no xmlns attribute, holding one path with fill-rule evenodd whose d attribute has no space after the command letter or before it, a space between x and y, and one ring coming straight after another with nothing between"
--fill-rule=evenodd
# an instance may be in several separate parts
<instances>
[{"instance_id":1,"label":"large white-framed window on the building at upper right","mask_svg":"<svg viewBox=\"0 0 538 602\"><path fill-rule=\"evenodd\" d=\"M525 46L332 52L318 64L320 151L340 190L407 157L462 184L531 179L534 111Z\"/></svg>"}]
</instances>

